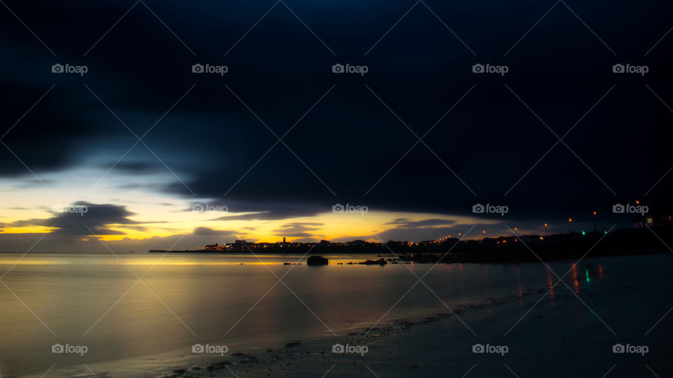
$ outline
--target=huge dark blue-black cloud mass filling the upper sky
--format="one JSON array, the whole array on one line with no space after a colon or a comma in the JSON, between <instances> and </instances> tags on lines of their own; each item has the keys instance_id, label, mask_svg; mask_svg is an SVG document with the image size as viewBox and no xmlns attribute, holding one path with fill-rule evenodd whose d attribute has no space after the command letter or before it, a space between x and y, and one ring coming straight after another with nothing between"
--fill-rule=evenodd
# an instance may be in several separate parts
<instances>
[{"instance_id":1,"label":"huge dark blue-black cloud mass filling the upper sky","mask_svg":"<svg viewBox=\"0 0 673 378\"><path fill-rule=\"evenodd\" d=\"M143 139L152 152L137 144L113 172L170 174L165 163L180 178L120 182L118 190L189 199L193 191L226 204L229 221L314 216L335 203L472 215L478 202L507 205L508 216L537 224L569 216L590 223L590 211L598 209L603 221L630 225L631 218L611 213L612 204L638 198L656 209L672 203L673 175L648 190L670 168L671 114L657 97L673 104L673 92L662 84L672 79L673 39L644 56L666 34L672 3L569 4L617 57L564 7L526 34L546 8L532 2L512 8L487 1L494 11L484 13L484 4L428 1L476 56L424 7L386 34L409 9L407 1L389 1L351 2L347 9L334 2L289 4L336 56L277 6L226 57L271 4L146 3L189 48L139 6L83 56L130 4L8 3L56 57L11 13L0 13L0 101L6 105L0 134L56 86L3 138L12 152L0 146L1 176L42 185L13 153L38 175L116 161L137 141L118 116L138 136L161 122ZM53 74L56 62L87 64L89 73ZM226 64L229 73L194 75L196 62ZM366 64L369 73L332 73L339 62ZM647 64L650 73L616 75L611 67L617 62ZM510 72L475 74L475 63L506 64ZM223 90L224 83L236 95ZM283 144L257 116L279 136L289 131ZM414 133L426 132L416 144ZM256 214L243 214L249 212Z\"/></svg>"}]
</instances>

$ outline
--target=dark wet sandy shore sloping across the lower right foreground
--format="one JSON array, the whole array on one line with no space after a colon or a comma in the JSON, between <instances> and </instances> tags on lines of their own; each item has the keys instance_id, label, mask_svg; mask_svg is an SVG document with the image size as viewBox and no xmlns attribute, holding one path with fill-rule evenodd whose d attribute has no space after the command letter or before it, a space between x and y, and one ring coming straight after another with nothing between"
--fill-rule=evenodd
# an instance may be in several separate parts
<instances>
[{"instance_id":1,"label":"dark wet sandy shore sloping across the lower right foreground","mask_svg":"<svg viewBox=\"0 0 673 378\"><path fill-rule=\"evenodd\" d=\"M290 340L271 349L229 353L176 369L167 377L671 374L665 356L673 351L668 342L673 318L665 318L645 335L673 304L673 284L666 272L620 272L590 289L577 286L576 293L575 281L564 282L568 287L559 283L550 293L549 287L528 288L520 296L486 298L484 304L454 308L454 314L447 309L419 319L395 319L372 330L356 328L344 337ZM648 352L613 353L618 343L648 346ZM334 344L367 346L367 353L334 353ZM507 350L473 353L475 344Z\"/></svg>"}]
</instances>

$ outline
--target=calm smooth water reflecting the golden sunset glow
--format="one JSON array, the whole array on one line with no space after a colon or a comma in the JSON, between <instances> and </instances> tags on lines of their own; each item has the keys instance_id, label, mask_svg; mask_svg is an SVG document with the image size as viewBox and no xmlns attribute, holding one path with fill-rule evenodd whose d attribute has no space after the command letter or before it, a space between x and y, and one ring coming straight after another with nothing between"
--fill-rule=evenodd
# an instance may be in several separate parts
<instances>
[{"instance_id":1,"label":"calm smooth water reflecting the golden sunset glow","mask_svg":"<svg viewBox=\"0 0 673 378\"><path fill-rule=\"evenodd\" d=\"M226 344L233 352L332 332L343 336L354 326L374 325L393 307L416 283L409 269L422 276L432 267L336 264L363 255L327 256L330 265L308 267L305 261L283 265L300 257L290 255L264 255L262 264L250 255L147 253L120 255L123 262L111 254L29 253L12 267L21 255L0 254L0 274L11 268L1 280L7 287L0 285L4 377L41 377L52 366L48 377L72 376L73 369L106 362L111 376L139 376L193 357L196 343ZM572 265L552 267L563 274ZM590 288L608 270L593 260L569 277L577 289ZM134 273L147 275L139 282ZM289 288L274 286L274 273L287 273ZM541 263L440 264L423 280L453 307L520 296L548 285L552 276ZM419 284L383 322L428 311L448 310ZM88 351L52 353L53 344Z\"/></svg>"}]
</instances>

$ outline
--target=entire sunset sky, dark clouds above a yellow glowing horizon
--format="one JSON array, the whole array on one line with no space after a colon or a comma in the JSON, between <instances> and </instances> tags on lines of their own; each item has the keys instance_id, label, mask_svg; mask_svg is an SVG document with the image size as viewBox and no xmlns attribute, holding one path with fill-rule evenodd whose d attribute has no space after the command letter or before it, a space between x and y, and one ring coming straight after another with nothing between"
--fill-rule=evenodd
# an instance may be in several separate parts
<instances>
[{"instance_id":1,"label":"entire sunset sky, dark clouds above a yellow glowing horizon","mask_svg":"<svg viewBox=\"0 0 673 378\"><path fill-rule=\"evenodd\" d=\"M631 227L671 208L672 7L6 0L0 250Z\"/></svg>"}]
</instances>

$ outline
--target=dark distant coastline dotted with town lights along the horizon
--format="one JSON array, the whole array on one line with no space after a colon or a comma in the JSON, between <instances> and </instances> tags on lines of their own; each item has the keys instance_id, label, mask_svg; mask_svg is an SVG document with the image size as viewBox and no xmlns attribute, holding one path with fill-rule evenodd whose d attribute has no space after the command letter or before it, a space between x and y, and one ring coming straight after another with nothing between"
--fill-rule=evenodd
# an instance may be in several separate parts
<instances>
[{"instance_id":1,"label":"dark distant coastline dotted with town lights along the horizon","mask_svg":"<svg viewBox=\"0 0 673 378\"><path fill-rule=\"evenodd\" d=\"M348 255L369 254L397 257L402 262L529 262L580 258L586 253L599 255L640 255L670 252L673 227L633 228L613 232L574 232L557 235L521 235L461 241L446 238L441 241L412 243L388 241L370 243L357 240L346 243L262 243L236 241L224 248L196 250L159 250L149 253L217 253L217 254L306 254ZM217 244L214 246L221 247ZM211 246L212 247L212 246ZM447 253L448 252L448 253Z\"/></svg>"}]
</instances>

